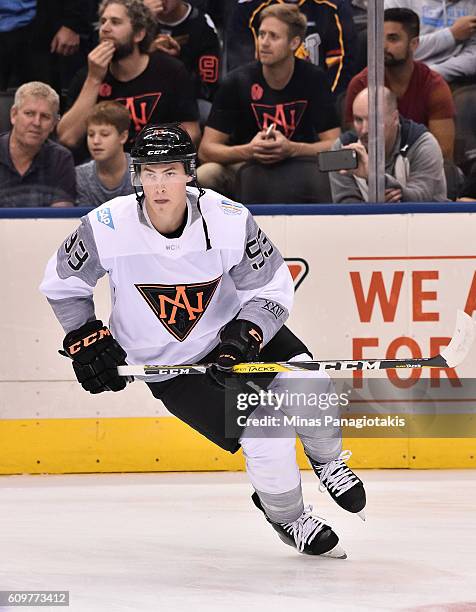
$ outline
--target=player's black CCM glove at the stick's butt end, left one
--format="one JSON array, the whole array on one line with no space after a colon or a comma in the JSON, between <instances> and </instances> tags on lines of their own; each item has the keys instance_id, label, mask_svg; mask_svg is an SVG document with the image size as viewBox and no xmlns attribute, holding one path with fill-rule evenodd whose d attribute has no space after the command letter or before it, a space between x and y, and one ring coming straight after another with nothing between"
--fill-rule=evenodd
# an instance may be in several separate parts
<instances>
[{"instance_id":1,"label":"player's black CCM glove at the stick's butt end, left one","mask_svg":"<svg viewBox=\"0 0 476 612\"><path fill-rule=\"evenodd\" d=\"M88 321L69 332L63 348L73 360L76 378L86 391L121 391L126 386L127 379L118 375L117 366L126 364L127 353L102 321Z\"/></svg>"}]
</instances>

